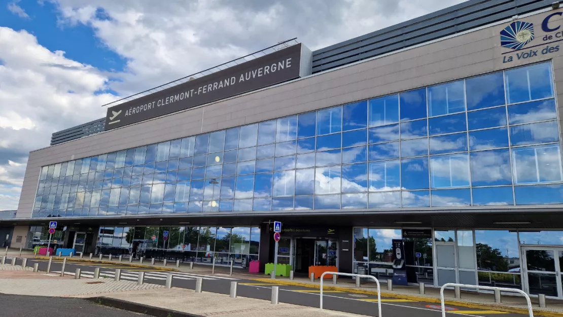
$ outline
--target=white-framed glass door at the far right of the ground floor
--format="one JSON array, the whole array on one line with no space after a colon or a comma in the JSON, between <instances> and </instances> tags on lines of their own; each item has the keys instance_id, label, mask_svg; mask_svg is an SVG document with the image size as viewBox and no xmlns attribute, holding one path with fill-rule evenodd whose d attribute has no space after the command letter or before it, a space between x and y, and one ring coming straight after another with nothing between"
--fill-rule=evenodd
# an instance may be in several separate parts
<instances>
[{"instance_id":1,"label":"white-framed glass door at the far right of the ground floor","mask_svg":"<svg viewBox=\"0 0 563 317\"><path fill-rule=\"evenodd\" d=\"M547 247L522 247L525 258L524 274L526 292L563 298L561 270L563 249Z\"/></svg>"}]
</instances>

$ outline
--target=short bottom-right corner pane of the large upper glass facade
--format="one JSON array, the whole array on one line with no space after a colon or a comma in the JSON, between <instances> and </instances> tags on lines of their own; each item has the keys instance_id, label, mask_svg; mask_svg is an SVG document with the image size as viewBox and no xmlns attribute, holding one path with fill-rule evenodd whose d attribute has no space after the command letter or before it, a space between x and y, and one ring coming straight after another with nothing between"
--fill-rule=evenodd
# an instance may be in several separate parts
<instances>
[{"instance_id":1,"label":"short bottom-right corner pane of the large upper glass facade","mask_svg":"<svg viewBox=\"0 0 563 317\"><path fill-rule=\"evenodd\" d=\"M563 185L515 186L517 205L542 205L563 203ZM539 243L538 243L539 244Z\"/></svg>"}]
</instances>

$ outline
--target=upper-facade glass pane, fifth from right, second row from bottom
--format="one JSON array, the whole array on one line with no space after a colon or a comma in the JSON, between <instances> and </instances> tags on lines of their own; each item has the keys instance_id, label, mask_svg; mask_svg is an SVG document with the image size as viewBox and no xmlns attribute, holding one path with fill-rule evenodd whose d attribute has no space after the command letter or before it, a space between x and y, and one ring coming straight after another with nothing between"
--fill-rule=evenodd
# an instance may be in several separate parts
<instances>
[{"instance_id":1,"label":"upper-facade glass pane, fifth from right, second row from bottom","mask_svg":"<svg viewBox=\"0 0 563 317\"><path fill-rule=\"evenodd\" d=\"M369 163L369 191L400 190L399 160Z\"/></svg>"}]
</instances>

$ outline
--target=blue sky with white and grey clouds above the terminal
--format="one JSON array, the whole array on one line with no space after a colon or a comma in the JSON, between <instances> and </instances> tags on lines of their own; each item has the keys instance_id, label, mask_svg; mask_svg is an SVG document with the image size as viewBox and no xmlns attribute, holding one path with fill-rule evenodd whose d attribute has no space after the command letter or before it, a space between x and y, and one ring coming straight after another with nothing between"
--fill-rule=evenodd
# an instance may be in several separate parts
<instances>
[{"instance_id":1,"label":"blue sky with white and grey clouds above the terminal","mask_svg":"<svg viewBox=\"0 0 563 317\"><path fill-rule=\"evenodd\" d=\"M323 48L462 0L1 0L0 210L29 151L101 106L297 37Z\"/></svg>"}]
</instances>

